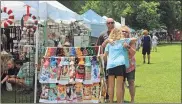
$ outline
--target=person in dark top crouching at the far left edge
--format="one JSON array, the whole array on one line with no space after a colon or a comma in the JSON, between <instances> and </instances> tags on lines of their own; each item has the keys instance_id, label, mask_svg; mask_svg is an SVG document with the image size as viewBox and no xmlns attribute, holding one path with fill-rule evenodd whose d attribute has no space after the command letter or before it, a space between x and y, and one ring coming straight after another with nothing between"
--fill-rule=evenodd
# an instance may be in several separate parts
<instances>
[{"instance_id":1,"label":"person in dark top crouching at the far left edge","mask_svg":"<svg viewBox=\"0 0 182 104\"><path fill-rule=\"evenodd\" d=\"M19 72L19 69L15 66L13 59L8 60L7 66L8 66L8 73L2 75L1 84L4 84L4 82L8 81L10 78L16 78Z\"/></svg>"}]
</instances>

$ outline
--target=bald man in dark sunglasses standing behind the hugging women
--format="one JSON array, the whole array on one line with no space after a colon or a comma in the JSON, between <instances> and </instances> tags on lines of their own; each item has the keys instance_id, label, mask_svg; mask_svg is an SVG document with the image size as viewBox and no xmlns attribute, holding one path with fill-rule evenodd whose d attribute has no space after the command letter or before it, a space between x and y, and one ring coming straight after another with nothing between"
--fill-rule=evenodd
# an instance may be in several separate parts
<instances>
[{"instance_id":1,"label":"bald man in dark sunglasses standing behind the hugging women","mask_svg":"<svg viewBox=\"0 0 182 104\"><path fill-rule=\"evenodd\" d=\"M114 20L112 18L107 18L106 25L107 25L107 31L102 32L101 35L99 36L97 42L96 42L96 46L100 46L100 45L102 46L103 52L104 52L105 46L106 46L106 45L104 45L104 41L108 40L108 37L109 37L109 34L111 33L111 30L114 29ZM107 62L105 62L104 72L105 72L106 84L107 84L107 88L108 88L108 73L106 70L106 66L107 66ZM109 100L109 95L108 95L108 89L107 89L106 102L108 102L108 100Z\"/></svg>"}]
</instances>

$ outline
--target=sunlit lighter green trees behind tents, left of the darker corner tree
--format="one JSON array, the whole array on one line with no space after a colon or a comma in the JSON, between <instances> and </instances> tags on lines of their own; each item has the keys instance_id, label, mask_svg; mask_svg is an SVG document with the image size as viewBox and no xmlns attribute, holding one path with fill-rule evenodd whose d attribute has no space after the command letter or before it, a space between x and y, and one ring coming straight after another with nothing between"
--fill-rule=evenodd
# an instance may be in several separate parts
<instances>
[{"instance_id":1,"label":"sunlit lighter green trees behind tents, left of the darker corner tree","mask_svg":"<svg viewBox=\"0 0 182 104\"><path fill-rule=\"evenodd\" d=\"M118 22L121 16L125 17L126 25L132 28L152 29L159 27L158 6L158 2L146 1L87 1L81 13L93 9L99 15L112 17Z\"/></svg>"}]
</instances>

